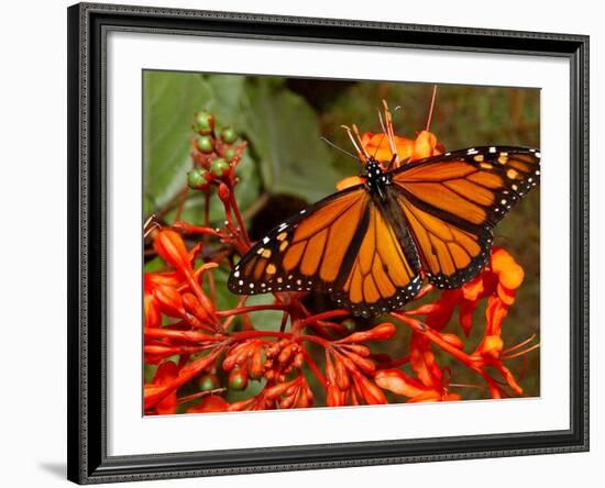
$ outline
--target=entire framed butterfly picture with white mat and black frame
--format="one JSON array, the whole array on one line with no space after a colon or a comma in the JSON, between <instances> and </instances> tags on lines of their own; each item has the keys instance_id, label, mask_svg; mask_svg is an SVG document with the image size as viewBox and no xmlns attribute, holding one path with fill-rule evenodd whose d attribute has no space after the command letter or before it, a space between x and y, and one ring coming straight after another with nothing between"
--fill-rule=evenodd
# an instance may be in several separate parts
<instances>
[{"instance_id":1,"label":"entire framed butterfly picture with white mat and black frame","mask_svg":"<svg viewBox=\"0 0 605 488\"><path fill-rule=\"evenodd\" d=\"M588 448L588 38L68 9L68 478Z\"/></svg>"}]
</instances>

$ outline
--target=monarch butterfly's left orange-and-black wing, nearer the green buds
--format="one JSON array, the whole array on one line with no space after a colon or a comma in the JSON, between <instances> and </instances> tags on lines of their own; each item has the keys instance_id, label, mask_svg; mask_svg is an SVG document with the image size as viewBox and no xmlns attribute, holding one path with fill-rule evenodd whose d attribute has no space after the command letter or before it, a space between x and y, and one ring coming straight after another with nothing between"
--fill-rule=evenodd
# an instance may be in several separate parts
<instances>
[{"instance_id":1,"label":"monarch butterfly's left orange-and-black wing, nearer the green buds","mask_svg":"<svg viewBox=\"0 0 605 488\"><path fill-rule=\"evenodd\" d=\"M375 315L420 288L418 256L403 241L371 193L352 187L276 226L238 263L228 286L239 295L322 291L355 315Z\"/></svg>"}]
</instances>

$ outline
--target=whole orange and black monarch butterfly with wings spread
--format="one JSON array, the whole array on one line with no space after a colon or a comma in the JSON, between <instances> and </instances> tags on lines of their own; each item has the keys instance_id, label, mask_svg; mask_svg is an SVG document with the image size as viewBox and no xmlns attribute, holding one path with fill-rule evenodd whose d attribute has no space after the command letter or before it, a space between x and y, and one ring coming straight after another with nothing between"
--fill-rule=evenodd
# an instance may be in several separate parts
<instances>
[{"instance_id":1,"label":"whole orange and black monarch butterfly with wings spread","mask_svg":"<svg viewBox=\"0 0 605 488\"><path fill-rule=\"evenodd\" d=\"M424 278L459 288L488 263L493 229L540 176L539 149L471 147L386 169L274 228L234 266L237 295L315 290L354 315L413 300Z\"/></svg>"}]
</instances>

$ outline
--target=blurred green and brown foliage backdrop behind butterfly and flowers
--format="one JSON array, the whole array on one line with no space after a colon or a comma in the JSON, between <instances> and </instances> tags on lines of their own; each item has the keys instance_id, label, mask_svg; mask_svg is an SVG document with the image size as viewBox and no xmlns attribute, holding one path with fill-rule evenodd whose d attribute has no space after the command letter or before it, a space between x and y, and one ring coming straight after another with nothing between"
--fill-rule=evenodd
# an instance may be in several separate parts
<instances>
[{"instance_id":1,"label":"blurred green and brown foliage backdrop behind butterfly and flowers","mask_svg":"<svg viewBox=\"0 0 605 488\"><path fill-rule=\"evenodd\" d=\"M359 164L320 140L326 136L346 151L351 143L341 124L355 123L363 132L381 132L377 111L386 100L394 113L395 133L414 138L425 129L433 86L430 84L369 82L238 75L205 75L146 70L143 73L144 212L170 222L175 201L191 168L189 141L194 112L207 110L217 123L233 126L249 142L238 167L242 180L237 198L255 239L294 212L334 192L334 184L356 175ZM480 145L540 145L540 91L502 87L439 85L430 126L447 151ZM190 192L191 193L191 192ZM222 222L222 207L213 201L211 219ZM182 219L202 222L202 198L190 195ZM495 230L495 244L504 246L525 268L526 279L504 323L509 347L540 330L540 193L530 192ZM158 269L155 258L145 269ZM235 303L219 269L219 304ZM429 296L435 300L437 295ZM255 296L249 303L271 297ZM465 350L481 340L484 308L475 312L475 326ZM253 317L260 329L278 329L280 313ZM463 336L457 317L447 331ZM477 326L479 324L479 326ZM366 328L358 320L358 328ZM405 356L408 332L380 345L375 352ZM538 336L539 337L539 336ZM441 365L452 366L452 381L481 384L477 377L449 356L437 352ZM321 358L318 357L321 363ZM539 396L539 350L507 363L527 396ZM406 368L408 368L407 366ZM404 369L406 369L404 368ZM150 374L151 371L146 371ZM250 388L254 386L254 381ZM463 398L487 398L485 389L457 389ZM249 397L253 391L246 391ZM230 400L235 399L229 398ZM318 399L320 400L320 399ZM391 400L400 399L392 397Z\"/></svg>"}]
</instances>

